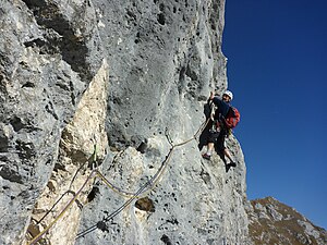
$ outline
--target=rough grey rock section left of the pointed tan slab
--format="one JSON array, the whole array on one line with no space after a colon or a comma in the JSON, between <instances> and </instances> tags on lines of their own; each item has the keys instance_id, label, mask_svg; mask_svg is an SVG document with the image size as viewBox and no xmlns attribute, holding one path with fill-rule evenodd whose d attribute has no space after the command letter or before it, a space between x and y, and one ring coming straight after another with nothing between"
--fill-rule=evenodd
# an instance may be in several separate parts
<instances>
[{"instance_id":1,"label":"rough grey rock section left of the pointed tan slab","mask_svg":"<svg viewBox=\"0 0 327 245\"><path fill-rule=\"evenodd\" d=\"M1 244L23 237L57 161L61 132L99 65L96 33L85 28L82 39L75 33L93 22L84 13L90 7L65 4L78 22L59 7L0 3Z\"/></svg>"}]
</instances>

